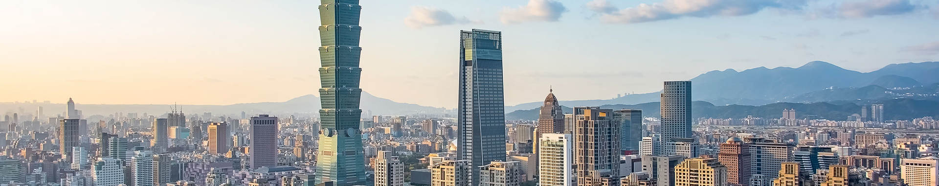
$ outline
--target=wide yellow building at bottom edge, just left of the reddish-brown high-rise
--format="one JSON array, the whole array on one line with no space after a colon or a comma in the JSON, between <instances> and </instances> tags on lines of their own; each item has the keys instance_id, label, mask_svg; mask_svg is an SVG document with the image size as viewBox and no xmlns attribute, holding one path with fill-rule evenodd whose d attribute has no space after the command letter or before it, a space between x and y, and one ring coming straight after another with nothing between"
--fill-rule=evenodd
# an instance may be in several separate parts
<instances>
[{"instance_id":1,"label":"wide yellow building at bottom edge, just left of the reddish-brown high-rise","mask_svg":"<svg viewBox=\"0 0 939 186\"><path fill-rule=\"evenodd\" d=\"M690 158L675 166L675 185L726 186L727 167L714 158Z\"/></svg>"}]
</instances>

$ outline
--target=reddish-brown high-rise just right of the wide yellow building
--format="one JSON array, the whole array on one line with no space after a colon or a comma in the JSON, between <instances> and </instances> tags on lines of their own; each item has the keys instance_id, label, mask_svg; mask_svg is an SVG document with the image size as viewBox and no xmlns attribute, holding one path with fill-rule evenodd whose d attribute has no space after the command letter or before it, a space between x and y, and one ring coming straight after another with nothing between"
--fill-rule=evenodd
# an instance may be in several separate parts
<instances>
[{"instance_id":1,"label":"reddish-brown high-rise just right of the wide yellow building","mask_svg":"<svg viewBox=\"0 0 939 186\"><path fill-rule=\"evenodd\" d=\"M737 137L727 139L720 144L717 160L727 167L727 182L730 185L748 185L750 181L750 149L747 143Z\"/></svg>"}]
</instances>

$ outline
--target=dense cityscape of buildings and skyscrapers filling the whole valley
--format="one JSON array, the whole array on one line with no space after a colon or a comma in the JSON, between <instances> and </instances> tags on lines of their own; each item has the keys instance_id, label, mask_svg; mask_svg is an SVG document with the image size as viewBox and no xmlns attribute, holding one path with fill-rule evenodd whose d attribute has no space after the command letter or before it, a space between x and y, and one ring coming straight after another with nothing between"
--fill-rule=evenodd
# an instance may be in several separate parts
<instances>
[{"instance_id":1,"label":"dense cityscape of buildings and skyscrapers filling the whole valley","mask_svg":"<svg viewBox=\"0 0 939 186\"><path fill-rule=\"evenodd\" d=\"M695 82L661 81L654 111L562 105L546 87L528 90L546 95L536 119L507 119L515 88L493 30L439 46L459 47L454 110L373 115L361 106L366 9L322 2L318 111L90 115L81 98L17 101L0 121L0 185L939 186L939 120L891 116L913 110L900 104L696 117Z\"/></svg>"}]
</instances>

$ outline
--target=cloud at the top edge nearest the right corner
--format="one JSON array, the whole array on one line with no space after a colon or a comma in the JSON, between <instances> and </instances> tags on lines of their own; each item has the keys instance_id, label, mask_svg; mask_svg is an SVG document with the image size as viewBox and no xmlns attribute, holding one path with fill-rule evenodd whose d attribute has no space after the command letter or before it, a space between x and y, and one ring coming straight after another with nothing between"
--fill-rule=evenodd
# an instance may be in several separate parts
<instances>
[{"instance_id":1,"label":"cloud at the top edge nearest the right corner","mask_svg":"<svg viewBox=\"0 0 939 186\"><path fill-rule=\"evenodd\" d=\"M913 12L910 0L866 0L841 4L839 15L845 18L866 18L876 15L897 15Z\"/></svg>"}]
</instances>

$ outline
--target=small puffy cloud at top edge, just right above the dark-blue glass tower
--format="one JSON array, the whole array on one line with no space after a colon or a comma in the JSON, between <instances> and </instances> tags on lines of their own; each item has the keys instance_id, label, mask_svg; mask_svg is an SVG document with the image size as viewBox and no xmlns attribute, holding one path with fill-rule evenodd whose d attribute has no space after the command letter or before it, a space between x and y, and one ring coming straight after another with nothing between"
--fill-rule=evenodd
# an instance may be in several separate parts
<instances>
[{"instance_id":1,"label":"small puffy cloud at top edge, just right above the dark-blue glass tower","mask_svg":"<svg viewBox=\"0 0 939 186\"><path fill-rule=\"evenodd\" d=\"M502 23L557 22L567 11L561 2L554 0L530 0L528 5L502 10Z\"/></svg>"}]
</instances>

